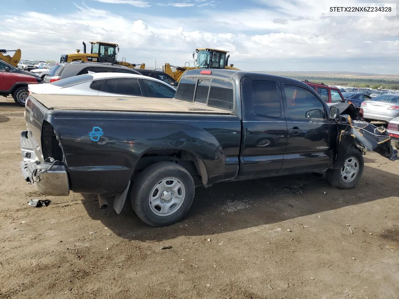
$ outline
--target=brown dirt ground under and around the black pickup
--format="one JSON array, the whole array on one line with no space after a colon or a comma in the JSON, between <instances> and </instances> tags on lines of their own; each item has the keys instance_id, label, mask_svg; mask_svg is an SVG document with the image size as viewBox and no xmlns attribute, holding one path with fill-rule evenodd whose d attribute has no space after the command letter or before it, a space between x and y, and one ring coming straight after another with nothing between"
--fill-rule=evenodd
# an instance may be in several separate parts
<instances>
[{"instance_id":1,"label":"brown dirt ground under and around the black pickup","mask_svg":"<svg viewBox=\"0 0 399 299\"><path fill-rule=\"evenodd\" d=\"M0 298L399 298L399 161L368 153L348 191L316 174L200 187L152 228L28 185L23 112L0 97Z\"/></svg>"}]
</instances>

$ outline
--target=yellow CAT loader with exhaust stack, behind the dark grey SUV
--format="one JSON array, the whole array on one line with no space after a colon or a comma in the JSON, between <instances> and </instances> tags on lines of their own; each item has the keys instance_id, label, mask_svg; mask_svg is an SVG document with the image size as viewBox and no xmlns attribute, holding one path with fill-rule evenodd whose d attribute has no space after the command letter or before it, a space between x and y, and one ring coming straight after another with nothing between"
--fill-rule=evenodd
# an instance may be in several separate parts
<instances>
[{"instance_id":1,"label":"yellow CAT loader with exhaust stack, behind the dark grey SUV","mask_svg":"<svg viewBox=\"0 0 399 299\"><path fill-rule=\"evenodd\" d=\"M89 61L89 62L109 62L118 65L124 65L134 69L140 65L140 69L145 69L145 63L128 63L125 58L122 61L117 61L117 53L119 52L119 45L116 43L105 43L103 41L91 41L91 51L86 53L86 44L83 41L83 53L77 49L76 53L61 55L60 63L72 61Z\"/></svg>"}]
</instances>

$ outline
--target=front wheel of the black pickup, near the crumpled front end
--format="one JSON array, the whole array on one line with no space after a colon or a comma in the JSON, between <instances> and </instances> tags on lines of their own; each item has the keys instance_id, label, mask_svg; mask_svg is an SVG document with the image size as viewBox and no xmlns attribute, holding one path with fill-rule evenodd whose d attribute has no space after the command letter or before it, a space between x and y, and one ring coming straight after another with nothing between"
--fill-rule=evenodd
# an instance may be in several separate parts
<instances>
[{"instance_id":1,"label":"front wheel of the black pickup, near the crumpled front end","mask_svg":"<svg viewBox=\"0 0 399 299\"><path fill-rule=\"evenodd\" d=\"M355 148L350 148L346 154L344 167L328 169L326 177L328 182L340 189L351 189L359 182L363 174L363 155Z\"/></svg>"}]
</instances>

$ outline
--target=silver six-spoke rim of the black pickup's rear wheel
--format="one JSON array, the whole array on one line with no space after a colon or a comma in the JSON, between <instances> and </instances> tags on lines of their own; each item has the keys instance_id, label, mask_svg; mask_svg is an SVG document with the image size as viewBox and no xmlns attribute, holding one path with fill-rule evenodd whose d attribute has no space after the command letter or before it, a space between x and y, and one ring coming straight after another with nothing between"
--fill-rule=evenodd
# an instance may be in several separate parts
<instances>
[{"instance_id":1,"label":"silver six-spoke rim of the black pickup's rear wheel","mask_svg":"<svg viewBox=\"0 0 399 299\"><path fill-rule=\"evenodd\" d=\"M186 197L186 187L176 177L159 181L148 196L151 211L161 217L169 216L180 209Z\"/></svg>"}]
</instances>

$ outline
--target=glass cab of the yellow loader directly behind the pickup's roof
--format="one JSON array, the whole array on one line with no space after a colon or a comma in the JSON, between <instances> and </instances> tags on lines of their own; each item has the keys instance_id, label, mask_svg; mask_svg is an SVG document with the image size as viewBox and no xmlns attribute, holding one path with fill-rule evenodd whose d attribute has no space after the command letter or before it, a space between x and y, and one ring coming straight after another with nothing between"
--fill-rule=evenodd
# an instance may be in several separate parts
<instances>
[{"instance_id":1,"label":"glass cab of the yellow loader directly behind the pickup's roof","mask_svg":"<svg viewBox=\"0 0 399 299\"><path fill-rule=\"evenodd\" d=\"M196 67L199 69L224 69L230 56L227 55L226 57L227 53L227 51L216 49L196 49L193 52L193 58L197 54L195 61Z\"/></svg>"}]
</instances>

